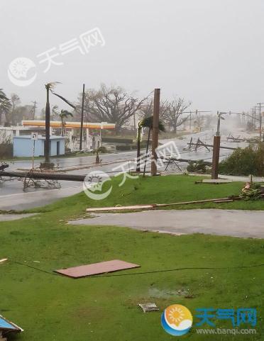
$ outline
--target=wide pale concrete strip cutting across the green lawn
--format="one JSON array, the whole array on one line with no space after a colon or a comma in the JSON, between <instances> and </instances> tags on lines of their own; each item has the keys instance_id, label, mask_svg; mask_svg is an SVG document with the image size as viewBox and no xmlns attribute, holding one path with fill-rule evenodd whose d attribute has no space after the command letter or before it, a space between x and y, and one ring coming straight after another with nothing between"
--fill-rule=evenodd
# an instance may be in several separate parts
<instances>
[{"instance_id":1,"label":"wide pale concrete strip cutting across the green lawn","mask_svg":"<svg viewBox=\"0 0 264 341\"><path fill-rule=\"evenodd\" d=\"M264 238L264 211L220 209L93 213L93 218L72 220L74 225L116 225L175 235L204 233Z\"/></svg>"}]
</instances>

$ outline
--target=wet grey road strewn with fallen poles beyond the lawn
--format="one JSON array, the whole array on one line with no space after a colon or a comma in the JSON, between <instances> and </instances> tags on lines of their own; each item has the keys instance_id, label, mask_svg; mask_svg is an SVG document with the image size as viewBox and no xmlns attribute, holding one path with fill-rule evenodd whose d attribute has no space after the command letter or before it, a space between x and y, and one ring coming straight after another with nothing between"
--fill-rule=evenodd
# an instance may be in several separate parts
<instances>
[{"instance_id":1,"label":"wet grey road strewn with fallen poles beyond the lawn","mask_svg":"<svg viewBox=\"0 0 264 341\"><path fill-rule=\"evenodd\" d=\"M229 135L229 131L226 132L226 135ZM187 160L211 160L211 151L209 152L204 148L202 148L201 150L197 150L197 152L185 149L187 146L187 142L189 142L191 136L195 140L197 140L197 138L201 138L204 142L212 142L211 130L207 130L202 133L192 133L186 135L181 140L160 140L160 142L166 143L168 141L175 141L175 145L177 145L177 148L180 152L180 157ZM226 136L223 135L221 145L245 147L246 143L226 142ZM229 155L230 152L231 150L221 150L220 158L224 158L226 155ZM53 158L52 161L55 163L58 169L61 169L63 172L67 172L68 174L89 174L89 172L93 172L94 170L101 170L111 176L116 174L116 172L121 172L120 166L123 165L126 160L134 160L135 157L136 151L101 155L102 163L99 166L94 164L95 156ZM43 160L37 160L35 162L35 167L38 167L38 165L42 161ZM77 169L78 167L81 169ZM119 169L114 169L114 167L119 167ZM126 163L126 169L128 169L128 167L133 168L133 164L130 164L128 166L128 163ZM181 163L180 167L182 168L182 170L184 170L187 167L187 164ZM9 167L9 169L11 170L30 168L31 161L15 161L10 163ZM159 167L160 171L163 171L164 169L164 165ZM170 164L167 172L175 173L179 172L179 170L174 164ZM57 199L63 198L65 196L70 196L72 194L78 193L79 191L82 191L82 185L73 181L60 181L60 184L62 186L62 189L31 189L31 191L28 192L30 194L28 194L23 192L23 184L17 179L5 182L0 181L0 210L21 210L43 206L47 203L56 201Z\"/></svg>"}]
</instances>

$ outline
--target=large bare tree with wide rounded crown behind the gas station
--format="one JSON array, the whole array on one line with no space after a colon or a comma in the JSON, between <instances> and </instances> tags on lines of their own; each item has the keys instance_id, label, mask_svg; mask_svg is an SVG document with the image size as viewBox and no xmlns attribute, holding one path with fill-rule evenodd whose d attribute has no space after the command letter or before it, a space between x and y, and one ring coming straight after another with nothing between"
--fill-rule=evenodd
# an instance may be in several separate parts
<instances>
[{"instance_id":1,"label":"large bare tree with wide rounded crown behind the gas station","mask_svg":"<svg viewBox=\"0 0 264 341\"><path fill-rule=\"evenodd\" d=\"M116 133L133 116L138 113L148 96L143 99L136 99L124 91L120 86L106 87L101 84L101 88L93 98L92 112L98 121L115 123Z\"/></svg>"}]
</instances>

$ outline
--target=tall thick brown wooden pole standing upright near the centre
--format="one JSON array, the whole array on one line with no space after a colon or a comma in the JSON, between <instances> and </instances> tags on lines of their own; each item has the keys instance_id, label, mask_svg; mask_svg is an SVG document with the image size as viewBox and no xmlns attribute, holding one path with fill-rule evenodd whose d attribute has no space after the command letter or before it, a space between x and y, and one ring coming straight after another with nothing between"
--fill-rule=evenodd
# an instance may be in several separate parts
<instances>
[{"instance_id":1,"label":"tall thick brown wooden pole standing upright near the centre","mask_svg":"<svg viewBox=\"0 0 264 341\"><path fill-rule=\"evenodd\" d=\"M157 175L157 153L158 148L158 123L160 120L160 89L154 91L154 108L153 108L153 130L152 130L152 160L151 175Z\"/></svg>"}]
</instances>

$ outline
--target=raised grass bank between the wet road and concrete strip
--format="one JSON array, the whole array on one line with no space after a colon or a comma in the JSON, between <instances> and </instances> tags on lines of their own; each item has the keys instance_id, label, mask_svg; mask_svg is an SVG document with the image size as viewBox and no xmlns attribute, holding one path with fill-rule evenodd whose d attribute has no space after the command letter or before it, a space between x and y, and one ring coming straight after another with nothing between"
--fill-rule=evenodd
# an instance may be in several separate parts
<instances>
[{"instance_id":1,"label":"raised grass bank between the wet road and concrete strip","mask_svg":"<svg viewBox=\"0 0 264 341\"><path fill-rule=\"evenodd\" d=\"M103 186L103 192L112 186L111 194L103 200L92 200L84 193L63 199L51 206L34 208L31 211L42 212L65 206L75 206L77 213L84 212L89 207L104 207L116 205L135 205L141 203L177 203L204 199L217 199L227 196L237 196L243 188L243 182L229 184L194 184L203 177L188 175L168 175L166 177L139 177L126 179L123 186L119 186L123 175L111 178ZM208 179L208 178L206 178ZM95 192L100 194L100 192ZM232 203L196 203L182 206L169 206L167 208L228 208L243 210L263 210L264 201L233 201ZM164 209L164 208L163 208Z\"/></svg>"}]
</instances>

